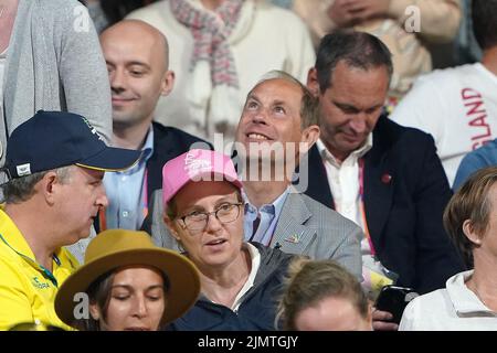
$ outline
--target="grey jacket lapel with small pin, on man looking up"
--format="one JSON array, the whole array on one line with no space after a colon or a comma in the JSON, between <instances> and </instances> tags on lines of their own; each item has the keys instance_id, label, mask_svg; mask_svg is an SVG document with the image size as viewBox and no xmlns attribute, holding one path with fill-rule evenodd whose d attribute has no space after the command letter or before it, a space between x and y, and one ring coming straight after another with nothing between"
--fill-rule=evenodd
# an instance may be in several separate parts
<instances>
[{"instance_id":1,"label":"grey jacket lapel with small pin, on man looking up","mask_svg":"<svg viewBox=\"0 0 497 353\"><path fill-rule=\"evenodd\" d=\"M283 204L271 246L279 244L285 253L304 254L316 236L315 229L304 225L311 216L302 195L290 192Z\"/></svg>"}]
</instances>

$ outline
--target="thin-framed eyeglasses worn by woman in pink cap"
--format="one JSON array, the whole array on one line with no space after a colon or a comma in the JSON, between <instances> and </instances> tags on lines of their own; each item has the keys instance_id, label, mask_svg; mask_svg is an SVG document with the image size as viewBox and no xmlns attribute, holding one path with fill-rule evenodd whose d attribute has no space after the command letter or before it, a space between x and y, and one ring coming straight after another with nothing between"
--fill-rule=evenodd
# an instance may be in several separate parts
<instances>
[{"instance_id":1,"label":"thin-framed eyeglasses worn by woman in pink cap","mask_svg":"<svg viewBox=\"0 0 497 353\"><path fill-rule=\"evenodd\" d=\"M223 203L212 212L193 211L186 216L179 217L189 231L202 231L209 223L209 216L213 214L221 223L231 223L239 218L240 206L243 203Z\"/></svg>"}]
</instances>

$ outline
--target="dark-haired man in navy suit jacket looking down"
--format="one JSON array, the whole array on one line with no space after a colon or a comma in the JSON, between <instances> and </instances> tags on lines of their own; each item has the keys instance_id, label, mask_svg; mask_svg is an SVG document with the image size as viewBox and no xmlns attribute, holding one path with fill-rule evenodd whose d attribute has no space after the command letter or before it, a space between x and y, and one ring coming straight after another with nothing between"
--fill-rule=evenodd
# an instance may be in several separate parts
<instances>
[{"instance_id":1,"label":"dark-haired man in navy suit jacket looking down","mask_svg":"<svg viewBox=\"0 0 497 353\"><path fill-rule=\"evenodd\" d=\"M320 100L321 135L306 193L362 226L363 264L423 293L463 265L443 229L451 190L433 139L382 115L392 71L387 46L370 34L321 40L307 83Z\"/></svg>"}]
</instances>

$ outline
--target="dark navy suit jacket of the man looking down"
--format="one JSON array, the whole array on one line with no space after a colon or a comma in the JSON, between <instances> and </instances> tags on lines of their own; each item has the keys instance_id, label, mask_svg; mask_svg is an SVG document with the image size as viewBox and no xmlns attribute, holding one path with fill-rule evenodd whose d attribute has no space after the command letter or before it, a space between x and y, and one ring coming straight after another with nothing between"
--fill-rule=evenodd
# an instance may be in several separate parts
<instances>
[{"instance_id":1,"label":"dark navy suit jacket of the man looking down","mask_svg":"<svg viewBox=\"0 0 497 353\"><path fill-rule=\"evenodd\" d=\"M316 146L308 158L306 193L332 207ZM444 288L448 277L464 269L442 224L451 196L433 138L380 117L364 156L364 208L377 256L400 275L398 285L424 293Z\"/></svg>"}]
</instances>

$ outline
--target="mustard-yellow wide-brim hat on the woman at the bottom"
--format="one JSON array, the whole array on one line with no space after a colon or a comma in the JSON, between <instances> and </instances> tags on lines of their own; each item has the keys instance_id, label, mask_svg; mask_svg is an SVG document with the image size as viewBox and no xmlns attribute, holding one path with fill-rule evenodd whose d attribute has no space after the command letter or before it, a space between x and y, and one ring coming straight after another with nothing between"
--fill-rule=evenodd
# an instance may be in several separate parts
<instances>
[{"instance_id":1,"label":"mustard-yellow wide-brim hat on the woman at the bottom","mask_svg":"<svg viewBox=\"0 0 497 353\"><path fill-rule=\"evenodd\" d=\"M154 245L145 232L108 229L89 242L85 264L60 287L55 311L66 324L75 327L75 295L86 292L102 275L124 266L151 266L168 279L167 306L162 323L183 315L197 301L200 278L197 267L183 255Z\"/></svg>"}]
</instances>

